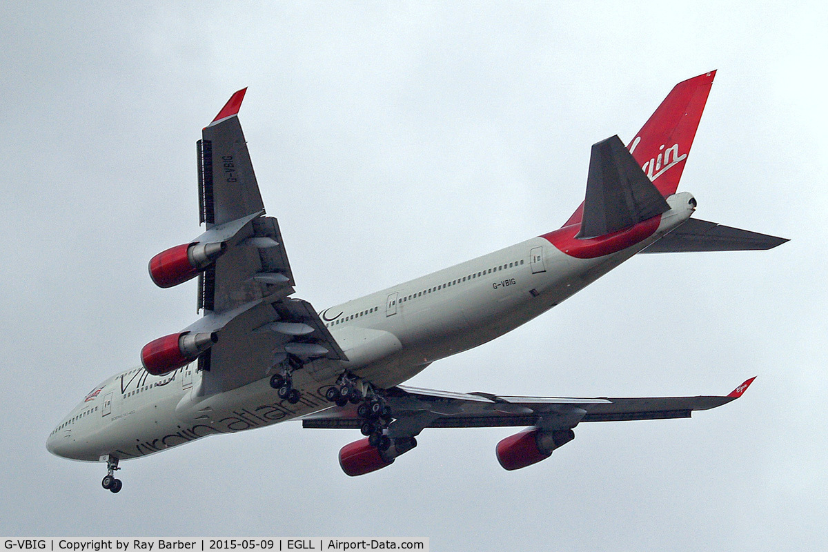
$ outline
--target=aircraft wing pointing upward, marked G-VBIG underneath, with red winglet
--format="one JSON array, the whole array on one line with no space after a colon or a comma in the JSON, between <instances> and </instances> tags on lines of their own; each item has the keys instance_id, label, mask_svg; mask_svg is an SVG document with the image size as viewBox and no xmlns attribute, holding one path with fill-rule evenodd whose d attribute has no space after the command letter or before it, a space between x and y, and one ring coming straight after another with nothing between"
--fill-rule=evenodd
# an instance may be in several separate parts
<instances>
[{"instance_id":1,"label":"aircraft wing pointing upward, marked G-VBIG underneath, with red winglet","mask_svg":"<svg viewBox=\"0 0 828 552\"><path fill-rule=\"evenodd\" d=\"M264 216L247 142L238 122L246 89L229 99L198 142L200 220L193 242L220 243L221 255L199 276L204 317L187 330L218 341L199 357L205 393L229 391L267 376L288 354L344 359L313 307L291 298L293 273L276 218Z\"/></svg>"}]
</instances>

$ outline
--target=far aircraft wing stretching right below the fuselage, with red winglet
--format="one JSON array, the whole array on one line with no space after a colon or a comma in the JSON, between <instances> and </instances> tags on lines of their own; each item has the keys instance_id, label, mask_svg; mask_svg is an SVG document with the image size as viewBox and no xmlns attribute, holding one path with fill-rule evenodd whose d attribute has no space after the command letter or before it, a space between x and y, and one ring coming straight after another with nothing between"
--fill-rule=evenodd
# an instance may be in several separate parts
<instances>
[{"instance_id":1,"label":"far aircraft wing stretching right below the fuselage, with red winglet","mask_svg":"<svg viewBox=\"0 0 828 552\"><path fill-rule=\"evenodd\" d=\"M739 398L753 379L727 396L646 398L498 396L396 386L385 397L394 418L388 435L412 437L431 427L533 425L569 430L582 421L689 418L694 410L709 410ZM354 406L332 407L302 418L303 427L314 429L359 429L362 423Z\"/></svg>"}]
</instances>

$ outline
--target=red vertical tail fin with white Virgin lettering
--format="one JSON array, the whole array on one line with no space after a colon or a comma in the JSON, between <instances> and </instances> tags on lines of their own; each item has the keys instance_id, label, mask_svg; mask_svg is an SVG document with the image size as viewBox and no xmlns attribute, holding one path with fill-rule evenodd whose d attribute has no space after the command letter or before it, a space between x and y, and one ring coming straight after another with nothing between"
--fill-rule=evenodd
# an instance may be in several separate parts
<instances>
[{"instance_id":1,"label":"red vertical tail fin with white Virgin lettering","mask_svg":"<svg viewBox=\"0 0 828 552\"><path fill-rule=\"evenodd\" d=\"M638 166L663 197L676 193L715 74L710 71L676 84L629 144ZM564 226L580 223L583 213L580 204Z\"/></svg>"}]
</instances>

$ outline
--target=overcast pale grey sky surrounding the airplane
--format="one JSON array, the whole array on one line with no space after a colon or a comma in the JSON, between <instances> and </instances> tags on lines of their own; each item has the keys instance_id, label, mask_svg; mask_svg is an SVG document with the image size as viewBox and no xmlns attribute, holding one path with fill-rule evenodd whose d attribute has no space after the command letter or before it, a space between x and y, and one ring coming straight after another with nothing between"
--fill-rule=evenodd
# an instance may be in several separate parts
<instances>
[{"instance_id":1,"label":"overcast pale grey sky surrounding the airplane","mask_svg":"<svg viewBox=\"0 0 828 552\"><path fill-rule=\"evenodd\" d=\"M5 2L0 534L825 550L825 3L559 3ZM46 452L94 384L195 319L195 284L156 288L147 261L200 233L194 144L233 91L321 310L557 228L590 145L713 69L681 190L699 218L792 241L633 258L412 384L671 396L758 376L739 401L580 425L515 473L494 456L509 429L426 430L348 478L357 432L288 423L124 463L118 496L102 465Z\"/></svg>"}]
</instances>

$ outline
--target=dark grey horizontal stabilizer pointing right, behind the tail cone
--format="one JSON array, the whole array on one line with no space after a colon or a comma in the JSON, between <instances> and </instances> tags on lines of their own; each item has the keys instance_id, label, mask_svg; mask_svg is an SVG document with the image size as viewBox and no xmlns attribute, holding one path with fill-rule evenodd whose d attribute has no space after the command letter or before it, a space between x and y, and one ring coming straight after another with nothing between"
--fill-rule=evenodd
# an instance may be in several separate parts
<instances>
[{"instance_id":1,"label":"dark grey horizontal stabilizer pointing right, behind the tail cone","mask_svg":"<svg viewBox=\"0 0 828 552\"><path fill-rule=\"evenodd\" d=\"M643 250L644 253L673 253L691 251L745 251L772 249L787 242L767 234L731 228L698 218L688 218L686 223Z\"/></svg>"}]
</instances>

